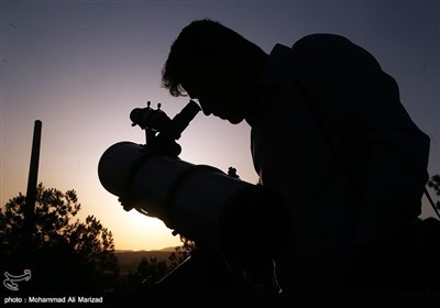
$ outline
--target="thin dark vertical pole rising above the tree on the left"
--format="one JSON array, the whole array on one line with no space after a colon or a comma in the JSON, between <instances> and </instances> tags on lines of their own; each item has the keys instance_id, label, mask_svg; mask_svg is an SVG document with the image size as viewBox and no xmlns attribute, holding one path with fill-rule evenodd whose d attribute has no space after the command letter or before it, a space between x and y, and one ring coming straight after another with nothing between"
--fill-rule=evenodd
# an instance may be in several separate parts
<instances>
[{"instance_id":1,"label":"thin dark vertical pole rising above the tree on the left","mask_svg":"<svg viewBox=\"0 0 440 308\"><path fill-rule=\"evenodd\" d=\"M32 234L35 229L35 201L36 186L38 176L40 143L41 143L42 121L36 120L34 124L34 135L32 140L31 165L29 169L26 199L24 205L23 220L23 249L29 250Z\"/></svg>"}]
</instances>

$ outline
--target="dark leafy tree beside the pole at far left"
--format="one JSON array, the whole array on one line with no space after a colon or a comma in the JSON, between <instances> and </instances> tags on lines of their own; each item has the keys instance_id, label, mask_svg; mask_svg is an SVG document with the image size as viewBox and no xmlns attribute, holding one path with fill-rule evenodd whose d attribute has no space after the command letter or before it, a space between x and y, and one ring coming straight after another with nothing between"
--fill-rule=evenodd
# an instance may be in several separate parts
<instances>
[{"instance_id":1,"label":"dark leafy tree beside the pole at far left","mask_svg":"<svg viewBox=\"0 0 440 308\"><path fill-rule=\"evenodd\" d=\"M6 270L30 268L32 283L26 285L31 290L110 292L118 276L111 232L94 216L86 222L70 222L80 210L75 190L63 194L38 184L36 191L29 248L21 246L25 196L20 193L0 209L0 255Z\"/></svg>"}]
</instances>

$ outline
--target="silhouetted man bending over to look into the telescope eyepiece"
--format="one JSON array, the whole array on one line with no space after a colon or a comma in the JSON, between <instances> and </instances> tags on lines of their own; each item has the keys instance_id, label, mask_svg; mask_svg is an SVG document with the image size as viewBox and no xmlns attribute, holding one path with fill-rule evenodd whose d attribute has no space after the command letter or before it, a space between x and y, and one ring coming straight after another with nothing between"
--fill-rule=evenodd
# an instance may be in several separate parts
<instances>
[{"instance_id":1,"label":"silhouetted man bending over to look into the telescope eyepiece","mask_svg":"<svg viewBox=\"0 0 440 308\"><path fill-rule=\"evenodd\" d=\"M289 241L276 257L285 294L387 288L389 243L421 212L429 138L370 53L312 34L266 54L199 20L173 43L162 81L206 116L251 125L261 183L290 210Z\"/></svg>"}]
</instances>

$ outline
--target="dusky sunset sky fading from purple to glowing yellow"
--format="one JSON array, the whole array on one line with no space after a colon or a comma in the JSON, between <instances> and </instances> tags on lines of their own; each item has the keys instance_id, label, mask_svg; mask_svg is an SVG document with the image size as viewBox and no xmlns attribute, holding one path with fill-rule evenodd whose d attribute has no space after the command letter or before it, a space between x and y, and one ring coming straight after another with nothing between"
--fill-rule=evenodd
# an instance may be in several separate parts
<instances>
[{"instance_id":1,"label":"dusky sunset sky fading from purple to glowing yellow","mask_svg":"<svg viewBox=\"0 0 440 308\"><path fill-rule=\"evenodd\" d=\"M25 194L35 120L43 122L38 182L75 189L79 218L95 215L118 250L179 245L162 221L125 212L98 179L102 153L144 143L130 112L162 103L174 117L187 98L161 87L180 30L210 18L270 53L311 33L336 33L371 52L396 78L414 121L431 138L440 173L439 1L8 1L1 0L0 204ZM256 183L250 128L199 113L179 140L180 158ZM424 216L432 211L424 199Z\"/></svg>"}]
</instances>

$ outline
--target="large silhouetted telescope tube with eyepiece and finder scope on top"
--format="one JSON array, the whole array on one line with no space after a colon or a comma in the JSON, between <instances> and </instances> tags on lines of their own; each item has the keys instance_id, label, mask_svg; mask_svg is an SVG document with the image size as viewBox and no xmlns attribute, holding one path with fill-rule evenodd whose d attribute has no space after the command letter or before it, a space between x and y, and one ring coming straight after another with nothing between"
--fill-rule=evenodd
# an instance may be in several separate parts
<instances>
[{"instance_id":1,"label":"large silhouetted telescope tube with eyepiece and finder scope on top","mask_svg":"<svg viewBox=\"0 0 440 308\"><path fill-rule=\"evenodd\" d=\"M262 185L178 157L176 140L199 111L193 100L173 119L150 102L133 109L132 125L145 130L146 143L108 147L98 164L100 183L125 210L158 218L196 245L239 264L271 260L289 234L284 200Z\"/></svg>"}]
</instances>

